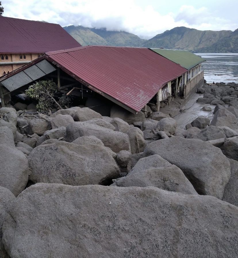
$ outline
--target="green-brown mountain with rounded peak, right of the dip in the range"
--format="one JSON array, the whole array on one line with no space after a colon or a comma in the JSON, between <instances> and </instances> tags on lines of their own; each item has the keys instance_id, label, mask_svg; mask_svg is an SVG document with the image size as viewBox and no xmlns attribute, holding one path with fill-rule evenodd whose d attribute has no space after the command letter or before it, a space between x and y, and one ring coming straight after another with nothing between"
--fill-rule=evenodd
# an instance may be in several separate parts
<instances>
[{"instance_id":1,"label":"green-brown mountain with rounded peak, right of the dip in the range","mask_svg":"<svg viewBox=\"0 0 238 258\"><path fill-rule=\"evenodd\" d=\"M200 49L212 46L222 38L230 36L231 33L231 30L203 31L186 27L176 27L149 39L144 44L144 47L162 47L200 52Z\"/></svg>"}]
</instances>

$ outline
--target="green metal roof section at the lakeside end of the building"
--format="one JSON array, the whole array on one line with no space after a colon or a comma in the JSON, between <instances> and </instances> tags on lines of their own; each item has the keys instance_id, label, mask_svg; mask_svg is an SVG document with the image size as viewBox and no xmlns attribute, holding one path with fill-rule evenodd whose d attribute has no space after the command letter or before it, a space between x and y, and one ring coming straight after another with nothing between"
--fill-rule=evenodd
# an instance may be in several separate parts
<instances>
[{"instance_id":1,"label":"green metal roof section at the lakeside end of the building","mask_svg":"<svg viewBox=\"0 0 238 258\"><path fill-rule=\"evenodd\" d=\"M206 61L206 59L199 57L187 50L173 50L173 49L161 49L151 48L154 52L162 55L163 57L178 63L186 69L191 69L197 64Z\"/></svg>"}]
</instances>

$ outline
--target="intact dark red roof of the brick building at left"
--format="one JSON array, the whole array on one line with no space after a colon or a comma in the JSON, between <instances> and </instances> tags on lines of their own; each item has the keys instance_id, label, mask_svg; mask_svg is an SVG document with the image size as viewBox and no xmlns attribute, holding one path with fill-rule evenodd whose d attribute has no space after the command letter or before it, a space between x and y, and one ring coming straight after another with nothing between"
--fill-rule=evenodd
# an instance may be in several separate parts
<instances>
[{"instance_id":1,"label":"intact dark red roof of the brick building at left","mask_svg":"<svg viewBox=\"0 0 238 258\"><path fill-rule=\"evenodd\" d=\"M59 24L0 16L0 53L45 53L81 45Z\"/></svg>"}]
</instances>

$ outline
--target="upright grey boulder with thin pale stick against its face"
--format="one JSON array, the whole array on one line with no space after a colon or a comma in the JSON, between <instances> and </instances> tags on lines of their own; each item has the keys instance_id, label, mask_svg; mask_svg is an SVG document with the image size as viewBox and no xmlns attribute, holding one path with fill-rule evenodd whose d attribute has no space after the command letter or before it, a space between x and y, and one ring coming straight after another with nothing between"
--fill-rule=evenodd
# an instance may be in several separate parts
<instances>
[{"instance_id":1,"label":"upright grey boulder with thin pale stick against its face","mask_svg":"<svg viewBox=\"0 0 238 258\"><path fill-rule=\"evenodd\" d=\"M130 140L130 150L132 154L144 151L146 142L144 134L139 128L132 127L126 134Z\"/></svg>"}]
</instances>

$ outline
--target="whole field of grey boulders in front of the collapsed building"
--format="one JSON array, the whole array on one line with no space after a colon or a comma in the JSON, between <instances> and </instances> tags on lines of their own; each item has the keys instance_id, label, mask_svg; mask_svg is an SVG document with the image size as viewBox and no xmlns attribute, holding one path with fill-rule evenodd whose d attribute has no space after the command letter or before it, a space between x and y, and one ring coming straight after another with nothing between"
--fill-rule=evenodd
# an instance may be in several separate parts
<instances>
[{"instance_id":1,"label":"whole field of grey boulders in front of the collapsed building","mask_svg":"<svg viewBox=\"0 0 238 258\"><path fill-rule=\"evenodd\" d=\"M87 107L0 109L0 257L236 257L238 84L186 128ZM209 107L203 107L209 111Z\"/></svg>"}]
</instances>

